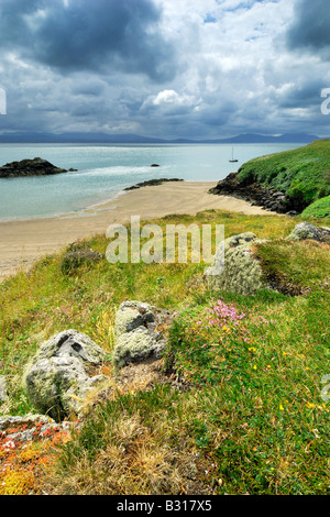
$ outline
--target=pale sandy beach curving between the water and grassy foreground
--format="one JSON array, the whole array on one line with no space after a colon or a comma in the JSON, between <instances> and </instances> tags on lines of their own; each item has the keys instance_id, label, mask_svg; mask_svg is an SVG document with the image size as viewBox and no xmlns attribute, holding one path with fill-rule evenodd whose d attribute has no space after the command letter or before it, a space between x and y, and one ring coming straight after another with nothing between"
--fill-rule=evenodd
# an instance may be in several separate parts
<instances>
[{"instance_id":1,"label":"pale sandy beach curving between the water and grassy foreground","mask_svg":"<svg viewBox=\"0 0 330 517\"><path fill-rule=\"evenodd\" d=\"M109 224L129 222L131 216L147 220L170 213L194 216L207 209L265 215L246 201L208 194L215 185L168 182L128 191L105 205L67 216L0 222L0 282L78 239L106 233Z\"/></svg>"}]
</instances>

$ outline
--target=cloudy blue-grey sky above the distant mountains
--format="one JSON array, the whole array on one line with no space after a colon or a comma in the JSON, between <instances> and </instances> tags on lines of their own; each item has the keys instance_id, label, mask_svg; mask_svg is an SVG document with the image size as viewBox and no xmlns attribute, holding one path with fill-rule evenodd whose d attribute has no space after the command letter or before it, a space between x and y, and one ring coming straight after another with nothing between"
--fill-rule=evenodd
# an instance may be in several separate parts
<instances>
[{"instance_id":1,"label":"cloudy blue-grey sky above the distant mountains","mask_svg":"<svg viewBox=\"0 0 330 517\"><path fill-rule=\"evenodd\" d=\"M330 135L329 0L0 0L0 132Z\"/></svg>"}]
</instances>

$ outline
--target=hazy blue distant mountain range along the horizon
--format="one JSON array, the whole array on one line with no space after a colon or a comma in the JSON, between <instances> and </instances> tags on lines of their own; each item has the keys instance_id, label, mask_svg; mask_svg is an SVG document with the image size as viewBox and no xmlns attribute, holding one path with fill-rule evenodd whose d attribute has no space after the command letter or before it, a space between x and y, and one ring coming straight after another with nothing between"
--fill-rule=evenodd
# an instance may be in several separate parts
<instances>
[{"instance_id":1,"label":"hazy blue distant mountain range along the horizon","mask_svg":"<svg viewBox=\"0 0 330 517\"><path fill-rule=\"evenodd\" d=\"M228 139L152 139L139 134L107 134L107 133L36 133L36 132L16 132L0 134L0 143L130 143L130 144L268 144L268 143L301 143L308 144L316 140L324 140L314 134L306 133L286 133L280 135L265 135L245 133Z\"/></svg>"}]
</instances>

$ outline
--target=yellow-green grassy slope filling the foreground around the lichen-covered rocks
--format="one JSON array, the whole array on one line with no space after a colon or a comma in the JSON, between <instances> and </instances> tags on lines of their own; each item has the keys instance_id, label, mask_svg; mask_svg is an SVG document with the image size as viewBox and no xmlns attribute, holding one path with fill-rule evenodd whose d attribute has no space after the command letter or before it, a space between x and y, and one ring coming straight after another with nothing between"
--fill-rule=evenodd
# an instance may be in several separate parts
<instances>
[{"instance_id":1,"label":"yellow-green grassy slope filling the foreground around the lichen-covered rocks","mask_svg":"<svg viewBox=\"0 0 330 517\"><path fill-rule=\"evenodd\" d=\"M165 360L190 389L156 386L100 405L58 452L47 493L179 494L193 477L208 494L328 494L330 403L321 398L321 377L330 374L329 248L284 243L299 218L207 211L154 222L223 223L226 237L253 231L272 239L257 250L265 271L302 295L213 299L200 282L202 264L102 261L67 276L61 255L1 285L0 373L9 381L2 414L33 410L21 374L53 333L76 328L111 354L122 300L182 311ZM108 242L98 235L87 244L105 252ZM218 299L232 307L231 317L211 323Z\"/></svg>"}]
</instances>

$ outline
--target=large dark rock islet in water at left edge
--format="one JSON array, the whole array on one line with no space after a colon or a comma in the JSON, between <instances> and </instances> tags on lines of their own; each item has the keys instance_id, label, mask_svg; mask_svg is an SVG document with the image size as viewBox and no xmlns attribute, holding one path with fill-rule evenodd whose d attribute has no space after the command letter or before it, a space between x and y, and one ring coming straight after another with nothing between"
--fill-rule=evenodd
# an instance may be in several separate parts
<instances>
[{"instance_id":1,"label":"large dark rock islet in water at left edge","mask_svg":"<svg viewBox=\"0 0 330 517\"><path fill-rule=\"evenodd\" d=\"M75 170L75 169L72 169ZM50 174L67 173L65 168L56 167L46 160L33 158L12 162L0 167L0 178L25 176L47 176Z\"/></svg>"}]
</instances>

